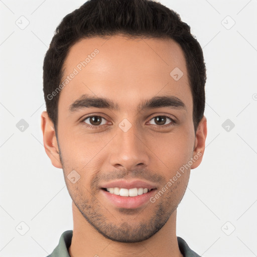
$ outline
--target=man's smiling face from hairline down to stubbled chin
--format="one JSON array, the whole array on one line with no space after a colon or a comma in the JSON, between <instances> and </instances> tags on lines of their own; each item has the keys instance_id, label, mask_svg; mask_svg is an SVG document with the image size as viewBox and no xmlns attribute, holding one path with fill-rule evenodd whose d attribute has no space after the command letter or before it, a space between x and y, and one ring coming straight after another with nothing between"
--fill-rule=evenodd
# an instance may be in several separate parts
<instances>
[{"instance_id":1,"label":"man's smiling face from hairline down to stubbled chin","mask_svg":"<svg viewBox=\"0 0 257 257\"><path fill-rule=\"evenodd\" d=\"M99 52L91 54L95 49ZM81 66L88 55L90 61ZM69 194L105 237L121 242L147 239L176 210L190 169L180 172L155 202L148 197L141 203L131 196L111 200L102 187L115 180L141 180L155 188L148 193L154 197L194 158L193 98L183 52L171 40L83 39L70 49L63 79L71 73L75 76L58 102L60 168ZM82 95L108 98L118 108L73 104ZM141 109L148 99L163 96L177 97L185 106Z\"/></svg>"}]
</instances>

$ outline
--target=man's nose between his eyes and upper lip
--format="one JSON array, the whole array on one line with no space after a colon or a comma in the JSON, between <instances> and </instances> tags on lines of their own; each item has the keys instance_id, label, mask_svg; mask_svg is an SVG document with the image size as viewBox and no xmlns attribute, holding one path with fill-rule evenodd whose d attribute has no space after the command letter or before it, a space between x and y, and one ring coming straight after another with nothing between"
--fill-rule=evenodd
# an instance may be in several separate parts
<instances>
[{"instance_id":1,"label":"man's nose between his eyes and upper lip","mask_svg":"<svg viewBox=\"0 0 257 257\"><path fill-rule=\"evenodd\" d=\"M150 150L142 134L137 130L136 125L132 125L126 132L117 129L117 135L113 138L109 153L112 167L133 170L138 166L149 165Z\"/></svg>"}]
</instances>

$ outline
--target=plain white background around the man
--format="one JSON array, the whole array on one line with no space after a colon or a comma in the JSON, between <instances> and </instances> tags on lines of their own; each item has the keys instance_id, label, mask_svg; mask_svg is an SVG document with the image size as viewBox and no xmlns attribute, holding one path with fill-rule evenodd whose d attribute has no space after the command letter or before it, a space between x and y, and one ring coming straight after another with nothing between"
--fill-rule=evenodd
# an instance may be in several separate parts
<instances>
[{"instance_id":1,"label":"plain white background around the man","mask_svg":"<svg viewBox=\"0 0 257 257\"><path fill-rule=\"evenodd\" d=\"M43 147L42 67L55 28L83 3L0 1L0 257L45 257L73 229L63 172ZM205 257L257 256L257 1L161 3L190 25L207 66L206 150L178 207L177 235ZM229 132L226 119L235 124Z\"/></svg>"}]
</instances>

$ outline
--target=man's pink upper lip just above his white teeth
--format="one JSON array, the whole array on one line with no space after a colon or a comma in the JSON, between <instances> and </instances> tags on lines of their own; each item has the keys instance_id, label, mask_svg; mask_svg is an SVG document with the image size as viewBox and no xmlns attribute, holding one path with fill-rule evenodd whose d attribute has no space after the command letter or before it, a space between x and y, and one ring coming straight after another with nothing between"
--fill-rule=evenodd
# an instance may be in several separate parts
<instances>
[{"instance_id":1,"label":"man's pink upper lip just above his white teeth","mask_svg":"<svg viewBox=\"0 0 257 257\"><path fill-rule=\"evenodd\" d=\"M100 185L101 188L148 188L148 189L155 189L156 186L151 182L146 182L143 180L115 180L105 184Z\"/></svg>"}]
</instances>

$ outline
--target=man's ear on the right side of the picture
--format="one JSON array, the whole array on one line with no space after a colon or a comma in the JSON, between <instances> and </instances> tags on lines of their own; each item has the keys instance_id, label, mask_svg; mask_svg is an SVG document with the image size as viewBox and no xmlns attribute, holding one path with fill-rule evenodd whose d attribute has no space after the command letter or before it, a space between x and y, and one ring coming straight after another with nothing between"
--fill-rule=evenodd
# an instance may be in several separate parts
<instances>
[{"instance_id":1,"label":"man's ear on the right side of the picture","mask_svg":"<svg viewBox=\"0 0 257 257\"><path fill-rule=\"evenodd\" d=\"M198 124L196 135L195 135L195 145L193 151L193 164L191 169L197 168L203 159L203 154L205 150L205 140L207 137L207 119L205 116L202 117Z\"/></svg>"}]
</instances>

